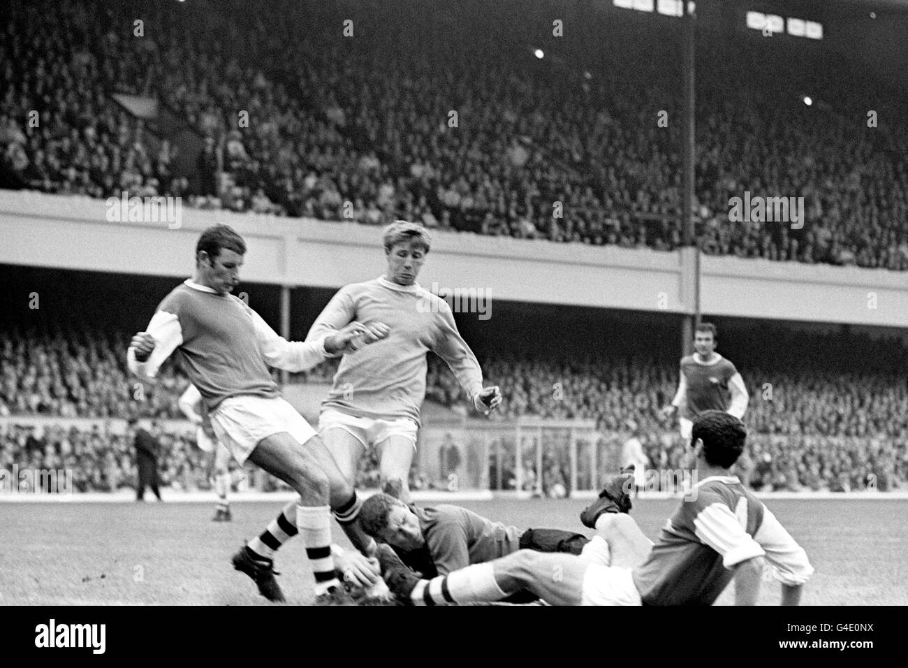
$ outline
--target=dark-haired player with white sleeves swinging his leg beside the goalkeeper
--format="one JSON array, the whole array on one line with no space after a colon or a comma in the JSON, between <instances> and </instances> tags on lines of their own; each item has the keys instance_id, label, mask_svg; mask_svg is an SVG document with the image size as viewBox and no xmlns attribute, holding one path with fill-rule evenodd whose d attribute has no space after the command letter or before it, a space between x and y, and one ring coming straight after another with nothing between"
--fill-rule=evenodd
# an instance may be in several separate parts
<instances>
[{"instance_id":1,"label":"dark-haired player with white sleeves swinging his leg beside the goalkeeper","mask_svg":"<svg viewBox=\"0 0 908 668\"><path fill-rule=\"evenodd\" d=\"M239 464L248 459L300 494L290 528L306 545L316 603L347 603L331 557L331 509L345 521L344 529L358 549L374 550L374 541L355 523L360 501L352 486L315 430L281 398L268 366L310 369L330 354L350 353L380 340L388 328L353 322L311 342L285 340L231 294L245 253L242 237L227 225L206 229L196 244L195 275L164 297L147 331L133 336L129 369L153 383L161 364L176 352L184 373L202 394L218 441ZM243 547L233 556L233 566L249 575L262 595L282 601L272 554L262 551Z\"/></svg>"}]
</instances>

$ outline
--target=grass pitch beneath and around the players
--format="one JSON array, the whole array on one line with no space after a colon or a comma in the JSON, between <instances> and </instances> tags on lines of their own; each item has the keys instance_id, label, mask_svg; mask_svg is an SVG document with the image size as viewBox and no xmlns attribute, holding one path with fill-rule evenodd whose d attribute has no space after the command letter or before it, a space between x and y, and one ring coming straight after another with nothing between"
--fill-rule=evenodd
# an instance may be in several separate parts
<instances>
[{"instance_id":1,"label":"grass pitch beneath and around the players","mask_svg":"<svg viewBox=\"0 0 908 668\"><path fill-rule=\"evenodd\" d=\"M460 503L521 528L590 534L584 501ZM655 539L677 501L638 501L632 515ZM232 569L232 553L282 503L234 503L232 523L212 523L213 503L0 503L0 604L270 605ZM431 503L427 503L431 505ZM905 605L908 501L776 500L767 503L804 546L816 573L805 605ZM350 543L336 524L335 540ZM299 539L278 554L288 603L311 603L311 571ZM765 583L761 603L779 603ZM734 603L734 585L717 604Z\"/></svg>"}]
</instances>

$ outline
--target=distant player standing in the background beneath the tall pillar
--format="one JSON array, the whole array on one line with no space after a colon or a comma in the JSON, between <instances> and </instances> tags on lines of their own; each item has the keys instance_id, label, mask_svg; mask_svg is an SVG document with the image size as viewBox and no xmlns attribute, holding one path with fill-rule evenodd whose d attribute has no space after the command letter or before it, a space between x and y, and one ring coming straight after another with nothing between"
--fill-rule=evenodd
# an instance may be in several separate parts
<instances>
[{"instance_id":1,"label":"distant player standing in the background beneath the tall pillar","mask_svg":"<svg viewBox=\"0 0 908 668\"><path fill-rule=\"evenodd\" d=\"M678 423L685 442L690 439L692 421L703 411L725 411L741 419L747 410L749 396L744 378L735 364L716 353L716 334L715 324L696 326L695 353L681 358L675 398L662 410L666 416L680 411Z\"/></svg>"}]
</instances>

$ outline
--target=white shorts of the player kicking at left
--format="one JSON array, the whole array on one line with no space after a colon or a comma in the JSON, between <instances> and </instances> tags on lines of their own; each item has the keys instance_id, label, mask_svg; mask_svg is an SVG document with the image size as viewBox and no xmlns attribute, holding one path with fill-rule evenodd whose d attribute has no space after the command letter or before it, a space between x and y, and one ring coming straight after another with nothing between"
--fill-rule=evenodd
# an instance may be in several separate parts
<instances>
[{"instance_id":1,"label":"white shorts of the player kicking at left","mask_svg":"<svg viewBox=\"0 0 908 668\"><path fill-rule=\"evenodd\" d=\"M211 414L218 441L243 464L263 438L287 432L300 444L317 435L281 397L242 394L224 399Z\"/></svg>"}]
</instances>

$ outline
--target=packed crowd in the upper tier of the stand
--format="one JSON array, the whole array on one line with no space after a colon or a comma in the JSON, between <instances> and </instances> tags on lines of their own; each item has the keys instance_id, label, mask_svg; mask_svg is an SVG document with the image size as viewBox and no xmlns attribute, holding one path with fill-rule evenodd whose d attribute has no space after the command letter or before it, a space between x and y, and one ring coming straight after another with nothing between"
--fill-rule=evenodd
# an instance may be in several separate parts
<instances>
[{"instance_id":1,"label":"packed crowd in the upper tier of the stand","mask_svg":"<svg viewBox=\"0 0 908 668\"><path fill-rule=\"evenodd\" d=\"M241 5L209 15L191 3L14 0L0 36L6 173L52 193L179 195L259 214L406 218L656 250L681 243L681 124L654 120L678 114L670 58L628 70L627 53L606 48L595 73L538 65L522 50L483 51L481 35L469 49L420 39L418 20L415 36L401 34L393 13L341 44L289 0L269 11ZM808 109L786 84L785 72L807 66L792 54L714 48L704 47L697 74L704 251L908 270L902 115L867 133L854 118L880 97L870 83L820 78L829 102ZM179 152L195 149L112 94L155 99L200 138L198 155L181 163ZM729 199L745 191L803 196L804 228L730 222Z\"/></svg>"}]
</instances>

